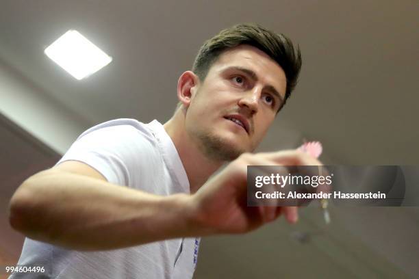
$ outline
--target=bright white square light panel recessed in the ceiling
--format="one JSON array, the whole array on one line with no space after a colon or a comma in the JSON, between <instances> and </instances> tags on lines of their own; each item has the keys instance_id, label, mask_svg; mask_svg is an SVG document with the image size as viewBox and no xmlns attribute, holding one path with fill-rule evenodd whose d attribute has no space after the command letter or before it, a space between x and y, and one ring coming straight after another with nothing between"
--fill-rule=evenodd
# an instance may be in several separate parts
<instances>
[{"instance_id":1,"label":"bright white square light panel recessed in the ceiling","mask_svg":"<svg viewBox=\"0 0 419 279\"><path fill-rule=\"evenodd\" d=\"M53 42L45 54L76 79L84 79L112 61L112 57L75 30Z\"/></svg>"}]
</instances>

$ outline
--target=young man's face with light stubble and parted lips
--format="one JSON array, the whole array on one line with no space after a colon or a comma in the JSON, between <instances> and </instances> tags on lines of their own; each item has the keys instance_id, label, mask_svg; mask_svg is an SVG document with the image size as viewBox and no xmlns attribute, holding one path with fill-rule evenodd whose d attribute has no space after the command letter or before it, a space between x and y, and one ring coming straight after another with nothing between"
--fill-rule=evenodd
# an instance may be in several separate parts
<instances>
[{"instance_id":1,"label":"young man's face with light stubble and parted lips","mask_svg":"<svg viewBox=\"0 0 419 279\"><path fill-rule=\"evenodd\" d=\"M266 53L249 45L229 49L195 86L186 130L213 159L235 159L262 141L285 88L285 73Z\"/></svg>"}]
</instances>

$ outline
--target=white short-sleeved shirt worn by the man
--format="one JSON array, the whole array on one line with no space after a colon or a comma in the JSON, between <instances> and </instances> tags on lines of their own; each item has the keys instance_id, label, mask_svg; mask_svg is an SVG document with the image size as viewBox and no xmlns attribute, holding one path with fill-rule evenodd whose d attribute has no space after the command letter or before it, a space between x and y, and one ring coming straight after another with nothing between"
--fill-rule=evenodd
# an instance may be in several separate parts
<instances>
[{"instance_id":1,"label":"white short-sleeved shirt worn by the man","mask_svg":"<svg viewBox=\"0 0 419 279\"><path fill-rule=\"evenodd\" d=\"M143 124L123 118L92 127L58 163L68 160L87 163L110 183L164 196L190 192L175 145L157 120ZM170 239L118 250L79 252L26 238L18 265L44 266L44 278L192 278L199 241ZM10 278L40 275L22 273Z\"/></svg>"}]
</instances>

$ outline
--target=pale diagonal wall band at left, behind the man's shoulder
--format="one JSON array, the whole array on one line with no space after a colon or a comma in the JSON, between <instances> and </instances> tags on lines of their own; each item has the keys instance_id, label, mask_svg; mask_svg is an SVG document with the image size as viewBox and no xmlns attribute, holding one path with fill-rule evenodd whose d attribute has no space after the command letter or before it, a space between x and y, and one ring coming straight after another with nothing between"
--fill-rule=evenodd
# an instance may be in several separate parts
<instances>
[{"instance_id":1,"label":"pale diagonal wall band at left, behind the man's shoulder","mask_svg":"<svg viewBox=\"0 0 419 279\"><path fill-rule=\"evenodd\" d=\"M91 126L1 63L0 113L60 154Z\"/></svg>"}]
</instances>

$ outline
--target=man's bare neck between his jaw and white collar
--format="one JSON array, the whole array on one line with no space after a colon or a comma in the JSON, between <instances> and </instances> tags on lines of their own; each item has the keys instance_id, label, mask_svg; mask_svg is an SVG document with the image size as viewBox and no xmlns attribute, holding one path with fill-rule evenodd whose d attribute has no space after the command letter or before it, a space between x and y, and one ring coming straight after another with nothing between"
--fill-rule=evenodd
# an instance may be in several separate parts
<instances>
[{"instance_id":1,"label":"man's bare neck between his jaw and white collar","mask_svg":"<svg viewBox=\"0 0 419 279\"><path fill-rule=\"evenodd\" d=\"M190 193L193 194L224 162L208 159L199 150L190 135L186 133L185 116L181 109L178 109L175 115L164 124L164 129L175 144L183 168L188 175Z\"/></svg>"}]
</instances>

